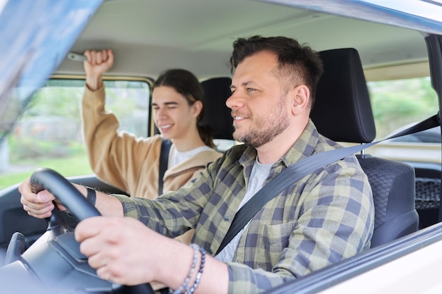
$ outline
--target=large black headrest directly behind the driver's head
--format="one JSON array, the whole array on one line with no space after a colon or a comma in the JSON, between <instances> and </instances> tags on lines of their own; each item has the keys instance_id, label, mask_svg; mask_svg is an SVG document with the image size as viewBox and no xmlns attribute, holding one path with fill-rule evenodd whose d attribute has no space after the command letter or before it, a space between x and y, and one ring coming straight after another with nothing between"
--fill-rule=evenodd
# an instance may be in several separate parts
<instances>
[{"instance_id":1,"label":"large black headrest directly behind the driver's head","mask_svg":"<svg viewBox=\"0 0 442 294\"><path fill-rule=\"evenodd\" d=\"M373 141L376 127L357 50L333 49L319 54L324 73L310 114L318 132L337 142Z\"/></svg>"}]
</instances>

